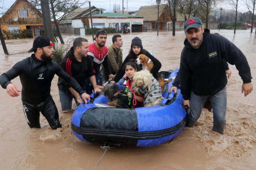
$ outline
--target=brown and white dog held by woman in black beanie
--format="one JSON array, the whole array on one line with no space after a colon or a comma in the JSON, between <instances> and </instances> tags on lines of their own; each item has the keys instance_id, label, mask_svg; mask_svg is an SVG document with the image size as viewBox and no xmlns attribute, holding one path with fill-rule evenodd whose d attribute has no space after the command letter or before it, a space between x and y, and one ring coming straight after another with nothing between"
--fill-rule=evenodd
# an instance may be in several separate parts
<instances>
[{"instance_id":1,"label":"brown and white dog held by woman in black beanie","mask_svg":"<svg viewBox=\"0 0 256 170\"><path fill-rule=\"evenodd\" d=\"M144 55L144 54L140 54L138 55L138 58L136 59L136 63L137 64L142 64L142 69L148 69L148 71L151 71L151 69L154 66L154 63L148 58L148 56ZM169 83L170 81L172 81L172 79L170 80L165 80L163 77L161 77L161 75L159 73L153 74L154 77L157 79L157 81L159 82L159 85L161 87L161 92L163 92L164 89L164 83Z\"/></svg>"}]
</instances>

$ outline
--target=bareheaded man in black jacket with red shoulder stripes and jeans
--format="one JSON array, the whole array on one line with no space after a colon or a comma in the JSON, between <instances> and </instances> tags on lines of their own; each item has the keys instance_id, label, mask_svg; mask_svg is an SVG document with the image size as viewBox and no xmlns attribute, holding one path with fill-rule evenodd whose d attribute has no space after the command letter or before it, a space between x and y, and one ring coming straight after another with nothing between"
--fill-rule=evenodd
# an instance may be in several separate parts
<instances>
[{"instance_id":1,"label":"bareheaded man in black jacket with red shoulder stripes and jeans","mask_svg":"<svg viewBox=\"0 0 256 170\"><path fill-rule=\"evenodd\" d=\"M71 49L62 59L61 67L64 69L64 71L66 71L66 73L76 79L83 90L85 90L85 79L89 78L94 87L94 91L100 92L102 86L98 86L96 84L93 63L90 57L87 57L87 53L88 40L81 37L76 38L74 40L73 47L71 47ZM73 98L76 101L76 105L82 103L80 95L61 78L58 80L58 88L62 111L66 111L72 108ZM88 98L90 98L89 95Z\"/></svg>"}]
</instances>

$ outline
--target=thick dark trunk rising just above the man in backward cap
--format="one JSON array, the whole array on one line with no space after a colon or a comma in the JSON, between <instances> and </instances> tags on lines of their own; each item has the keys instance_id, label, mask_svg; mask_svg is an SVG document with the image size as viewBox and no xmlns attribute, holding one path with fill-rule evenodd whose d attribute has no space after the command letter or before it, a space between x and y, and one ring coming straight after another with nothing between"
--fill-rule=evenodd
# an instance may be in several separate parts
<instances>
[{"instance_id":1,"label":"thick dark trunk rising just above the man in backward cap","mask_svg":"<svg viewBox=\"0 0 256 170\"><path fill-rule=\"evenodd\" d=\"M50 40L52 40L52 42L54 42L49 1L48 0L40 0L40 1L41 1L41 8L42 8L42 14L43 14L44 34L47 37L49 37Z\"/></svg>"}]
</instances>

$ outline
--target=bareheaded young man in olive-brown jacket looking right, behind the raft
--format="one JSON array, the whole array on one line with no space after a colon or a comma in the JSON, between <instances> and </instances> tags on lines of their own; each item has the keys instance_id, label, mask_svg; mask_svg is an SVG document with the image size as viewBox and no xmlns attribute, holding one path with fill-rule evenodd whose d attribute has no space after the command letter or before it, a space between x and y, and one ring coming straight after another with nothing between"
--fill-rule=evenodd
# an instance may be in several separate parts
<instances>
[{"instance_id":1,"label":"bareheaded young man in olive-brown jacket looking right, behind the raft","mask_svg":"<svg viewBox=\"0 0 256 170\"><path fill-rule=\"evenodd\" d=\"M108 64L110 65L110 70L113 75L117 73L119 68L123 63L123 53L121 47L123 46L123 40L120 35L114 35L112 37L113 44L108 47ZM106 73L104 67L102 67L103 81L108 81L108 74Z\"/></svg>"}]
</instances>

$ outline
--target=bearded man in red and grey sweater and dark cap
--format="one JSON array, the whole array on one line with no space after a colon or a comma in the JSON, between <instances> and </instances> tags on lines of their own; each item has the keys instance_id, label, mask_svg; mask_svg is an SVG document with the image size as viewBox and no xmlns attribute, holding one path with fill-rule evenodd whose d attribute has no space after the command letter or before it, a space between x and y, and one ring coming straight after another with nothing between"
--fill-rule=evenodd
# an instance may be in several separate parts
<instances>
[{"instance_id":1,"label":"bearded man in red and grey sweater and dark cap","mask_svg":"<svg viewBox=\"0 0 256 170\"><path fill-rule=\"evenodd\" d=\"M91 43L89 45L88 55L92 57L93 60L93 68L96 71L96 82L97 85L102 85L102 75L100 73L100 65L104 66L106 74L109 78L114 78L114 75L110 71L110 67L108 65L108 47L105 46L107 41L107 32L104 30L98 30L95 34L94 40L95 43ZM92 93L92 85L89 79L86 79L86 93Z\"/></svg>"}]
</instances>

